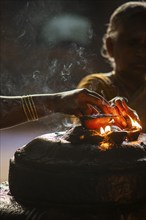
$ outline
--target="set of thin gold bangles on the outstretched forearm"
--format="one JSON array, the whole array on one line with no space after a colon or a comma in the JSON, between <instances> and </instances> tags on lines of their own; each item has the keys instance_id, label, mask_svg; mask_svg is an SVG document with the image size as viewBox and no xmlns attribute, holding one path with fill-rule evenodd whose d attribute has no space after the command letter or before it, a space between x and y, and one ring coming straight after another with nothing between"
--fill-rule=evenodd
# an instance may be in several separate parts
<instances>
[{"instance_id":1,"label":"set of thin gold bangles on the outstretched forearm","mask_svg":"<svg viewBox=\"0 0 146 220\"><path fill-rule=\"evenodd\" d=\"M38 114L32 96L21 96L21 102L27 121L38 120Z\"/></svg>"}]
</instances>

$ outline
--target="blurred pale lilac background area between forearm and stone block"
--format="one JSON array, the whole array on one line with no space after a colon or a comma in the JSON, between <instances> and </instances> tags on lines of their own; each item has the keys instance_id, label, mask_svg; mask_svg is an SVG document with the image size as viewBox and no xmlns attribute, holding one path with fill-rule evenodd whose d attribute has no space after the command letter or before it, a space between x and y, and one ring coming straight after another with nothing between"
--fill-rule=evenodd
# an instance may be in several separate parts
<instances>
[{"instance_id":1,"label":"blurred pale lilac background area between forearm and stone block","mask_svg":"<svg viewBox=\"0 0 146 220\"><path fill-rule=\"evenodd\" d=\"M35 123L0 131L0 183L8 181L9 160L15 151L44 133L48 133L48 129Z\"/></svg>"}]
</instances>

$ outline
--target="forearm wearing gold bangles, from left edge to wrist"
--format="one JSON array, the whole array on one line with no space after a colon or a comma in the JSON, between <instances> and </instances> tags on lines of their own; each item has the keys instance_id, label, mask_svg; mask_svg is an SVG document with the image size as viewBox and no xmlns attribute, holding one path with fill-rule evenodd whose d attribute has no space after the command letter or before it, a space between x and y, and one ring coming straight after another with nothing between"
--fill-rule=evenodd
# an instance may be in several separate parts
<instances>
[{"instance_id":1,"label":"forearm wearing gold bangles, from left edge to wrist","mask_svg":"<svg viewBox=\"0 0 146 220\"><path fill-rule=\"evenodd\" d=\"M0 129L34 121L56 112L58 96L36 94L31 96L1 96ZM33 107L34 105L34 107Z\"/></svg>"}]
</instances>

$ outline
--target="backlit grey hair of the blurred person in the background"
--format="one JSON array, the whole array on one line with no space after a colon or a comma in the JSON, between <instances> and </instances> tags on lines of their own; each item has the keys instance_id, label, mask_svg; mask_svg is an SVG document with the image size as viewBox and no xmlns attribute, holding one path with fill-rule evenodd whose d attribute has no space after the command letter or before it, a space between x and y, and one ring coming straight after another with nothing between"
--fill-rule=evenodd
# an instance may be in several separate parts
<instances>
[{"instance_id":1,"label":"backlit grey hair of the blurred person in the background","mask_svg":"<svg viewBox=\"0 0 146 220\"><path fill-rule=\"evenodd\" d=\"M132 1L127 2L119 6L111 15L107 30L103 36L103 46L101 48L101 54L106 58L112 67L114 67L114 59L110 57L107 47L106 39L108 37L113 38L118 28L127 23L127 21L133 16L139 16L141 14L146 15L146 2Z\"/></svg>"}]
</instances>

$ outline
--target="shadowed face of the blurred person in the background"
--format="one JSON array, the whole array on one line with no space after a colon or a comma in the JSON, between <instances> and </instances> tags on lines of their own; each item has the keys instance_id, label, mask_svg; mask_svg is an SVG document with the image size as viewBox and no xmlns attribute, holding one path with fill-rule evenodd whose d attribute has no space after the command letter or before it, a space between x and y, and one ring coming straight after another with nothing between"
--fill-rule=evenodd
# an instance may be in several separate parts
<instances>
[{"instance_id":1,"label":"shadowed face of the blurred person in the background","mask_svg":"<svg viewBox=\"0 0 146 220\"><path fill-rule=\"evenodd\" d=\"M136 17L120 27L115 39L107 39L107 48L117 72L143 77L146 74L146 16Z\"/></svg>"}]
</instances>

